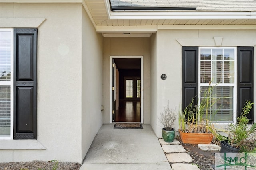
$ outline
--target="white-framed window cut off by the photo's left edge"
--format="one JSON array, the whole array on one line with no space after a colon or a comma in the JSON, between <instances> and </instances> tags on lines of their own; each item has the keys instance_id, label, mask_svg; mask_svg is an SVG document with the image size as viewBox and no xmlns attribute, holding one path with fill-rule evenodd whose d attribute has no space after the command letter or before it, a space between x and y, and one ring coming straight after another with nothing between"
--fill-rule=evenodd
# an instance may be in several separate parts
<instances>
[{"instance_id":1,"label":"white-framed window cut off by the photo's left edge","mask_svg":"<svg viewBox=\"0 0 256 170\"><path fill-rule=\"evenodd\" d=\"M13 29L0 29L0 138L13 136Z\"/></svg>"}]
</instances>

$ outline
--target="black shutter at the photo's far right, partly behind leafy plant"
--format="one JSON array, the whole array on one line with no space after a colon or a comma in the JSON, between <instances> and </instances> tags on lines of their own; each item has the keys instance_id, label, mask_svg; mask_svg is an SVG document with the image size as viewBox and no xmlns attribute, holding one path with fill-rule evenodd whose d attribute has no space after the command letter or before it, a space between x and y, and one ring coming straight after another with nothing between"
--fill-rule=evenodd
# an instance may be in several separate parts
<instances>
[{"instance_id":1,"label":"black shutter at the photo's far right, partly behind leafy plant","mask_svg":"<svg viewBox=\"0 0 256 170\"><path fill-rule=\"evenodd\" d=\"M253 47L237 47L237 116L245 101L253 102ZM248 118L253 121L253 109Z\"/></svg>"}]
</instances>

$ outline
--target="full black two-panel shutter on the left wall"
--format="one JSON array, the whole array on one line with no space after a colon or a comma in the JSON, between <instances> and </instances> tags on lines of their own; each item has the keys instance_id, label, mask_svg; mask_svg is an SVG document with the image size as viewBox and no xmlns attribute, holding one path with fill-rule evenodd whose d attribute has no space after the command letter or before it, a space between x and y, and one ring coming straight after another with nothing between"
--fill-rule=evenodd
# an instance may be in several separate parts
<instances>
[{"instance_id":1,"label":"full black two-panel shutter on the left wall","mask_svg":"<svg viewBox=\"0 0 256 170\"><path fill-rule=\"evenodd\" d=\"M37 139L37 29L14 29L14 137Z\"/></svg>"}]
</instances>

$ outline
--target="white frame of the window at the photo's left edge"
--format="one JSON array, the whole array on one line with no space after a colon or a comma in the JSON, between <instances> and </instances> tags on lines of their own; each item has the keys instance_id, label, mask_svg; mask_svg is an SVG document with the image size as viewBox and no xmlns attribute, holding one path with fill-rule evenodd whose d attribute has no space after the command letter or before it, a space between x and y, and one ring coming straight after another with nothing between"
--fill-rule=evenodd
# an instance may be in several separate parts
<instances>
[{"instance_id":1,"label":"white frame of the window at the photo's left edge","mask_svg":"<svg viewBox=\"0 0 256 170\"><path fill-rule=\"evenodd\" d=\"M13 69L13 29L12 28L0 28L0 31L10 31L11 33L11 81L8 82L4 82L4 81L0 81L0 85L1 86L10 86L10 90L11 90L11 122L10 122L10 137L0 137L0 139L13 139L13 73L14 73L14 69Z\"/></svg>"}]
</instances>

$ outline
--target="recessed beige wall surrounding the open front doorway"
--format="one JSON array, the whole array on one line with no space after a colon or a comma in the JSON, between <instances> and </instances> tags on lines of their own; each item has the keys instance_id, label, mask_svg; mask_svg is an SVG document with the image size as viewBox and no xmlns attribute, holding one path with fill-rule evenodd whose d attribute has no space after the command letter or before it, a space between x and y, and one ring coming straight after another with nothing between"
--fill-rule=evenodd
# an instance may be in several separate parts
<instances>
[{"instance_id":1,"label":"recessed beige wall surrounding the open front doorway","mask_svg":"<svg viewBox=\"0 0 256 170\"><path fill-rule=\"evenodd\" d=\"M104 38L103 65L103 123L110 123L110 56L143 56L144 122L150 123L150 39Z\"/></svg>"}]
</instances>

